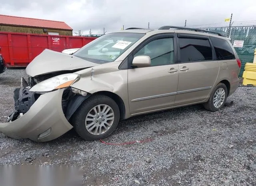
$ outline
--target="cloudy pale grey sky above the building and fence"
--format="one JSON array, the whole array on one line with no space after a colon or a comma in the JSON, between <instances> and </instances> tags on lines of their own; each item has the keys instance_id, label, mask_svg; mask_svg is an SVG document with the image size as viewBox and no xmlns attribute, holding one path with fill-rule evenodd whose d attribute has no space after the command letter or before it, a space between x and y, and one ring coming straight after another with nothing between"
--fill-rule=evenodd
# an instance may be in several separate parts
<instances>
[{"instance_id":1,"label":"cloudy pale grey sky above the building and fence","mask_svg":"<svg viewBox=\"0 0 256 186\"><path fill-rule=\"evenodd\" d=\"M0 0L0 14L66 22L83 34L129 27L228 25L255 21L255 0ZM255 21L256 22L256 21Z\"/></svg>"}]
</instances>

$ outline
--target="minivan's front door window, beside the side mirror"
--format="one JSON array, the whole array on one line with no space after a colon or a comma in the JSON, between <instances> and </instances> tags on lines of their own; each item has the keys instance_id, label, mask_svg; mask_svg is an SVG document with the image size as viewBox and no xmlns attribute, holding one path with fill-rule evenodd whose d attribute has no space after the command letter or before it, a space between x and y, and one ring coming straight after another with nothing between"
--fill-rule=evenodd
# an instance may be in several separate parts
<instances>
[{"instance_id":1,"label":"minivan's front door window, beside the side mirror","mask_svg":"<svg viewBox=\"0 0 256 186\"><path fill-rule=\"evenodd\" d=\"M151 59L151 66L168 65L174 63L173 38L162 38L149 42L140 49L134 57L148 55Z\"/></svg>"}]
</instances>

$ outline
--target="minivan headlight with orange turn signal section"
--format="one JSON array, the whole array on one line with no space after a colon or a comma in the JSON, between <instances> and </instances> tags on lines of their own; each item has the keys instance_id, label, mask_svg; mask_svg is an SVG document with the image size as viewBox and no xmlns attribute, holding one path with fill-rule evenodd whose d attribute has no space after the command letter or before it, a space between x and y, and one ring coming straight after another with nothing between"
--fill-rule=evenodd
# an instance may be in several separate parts
<instances>
[{"instance_id":1,"label":"minivan headlight with orange turn signal section","mask_svg":"<svg viewBox=\"0 0 256 186\"><path fill-rule=\"evenodd\" d=\"M46 79L32 87L30 91L32 92L50 92L56 89L62 89L72 85L76 79L79 77L76 73L66 73L62 75L57 75L50 79Z\"/></svg>"}]
</instances>

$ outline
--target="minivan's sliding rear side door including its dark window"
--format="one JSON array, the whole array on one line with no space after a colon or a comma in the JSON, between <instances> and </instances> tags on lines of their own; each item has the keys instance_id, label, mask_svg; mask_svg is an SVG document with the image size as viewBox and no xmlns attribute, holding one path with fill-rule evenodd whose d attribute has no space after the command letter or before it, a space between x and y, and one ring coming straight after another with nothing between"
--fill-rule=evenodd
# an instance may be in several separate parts
<instances>
[{"instance_id":1,"label":"minivan's sliding rear side door including its dark window","mask_svg":"<svg viewBox=\"0 0 256 186\"><path fill-rule=\"evenodd\" d=\"M219 63L208 36L177 34L178 90L174 105L204 101L219 72Z\"/></svg>"}]
</instances>

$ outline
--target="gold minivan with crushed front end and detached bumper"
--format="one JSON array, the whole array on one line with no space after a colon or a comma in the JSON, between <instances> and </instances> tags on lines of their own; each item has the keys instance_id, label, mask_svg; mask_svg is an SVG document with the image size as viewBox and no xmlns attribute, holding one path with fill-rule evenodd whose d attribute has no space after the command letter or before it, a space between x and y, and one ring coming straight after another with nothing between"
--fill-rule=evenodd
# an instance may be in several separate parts
<instances>
[{"instance_id":1,"label":"gold minivan with crushed front end and detached bumper","mask_svg":"<svg viewBox=\"0 0 256 186\"><path fill-rule=\"evenodd\" d=\"M27 66L0 131L45 142L74 127L98 140L135 115L199 103L218 111L238 87L241 62L228 38L210 32L131 28L72 55L45 49Z\"/></svg>"}]
</instances>

